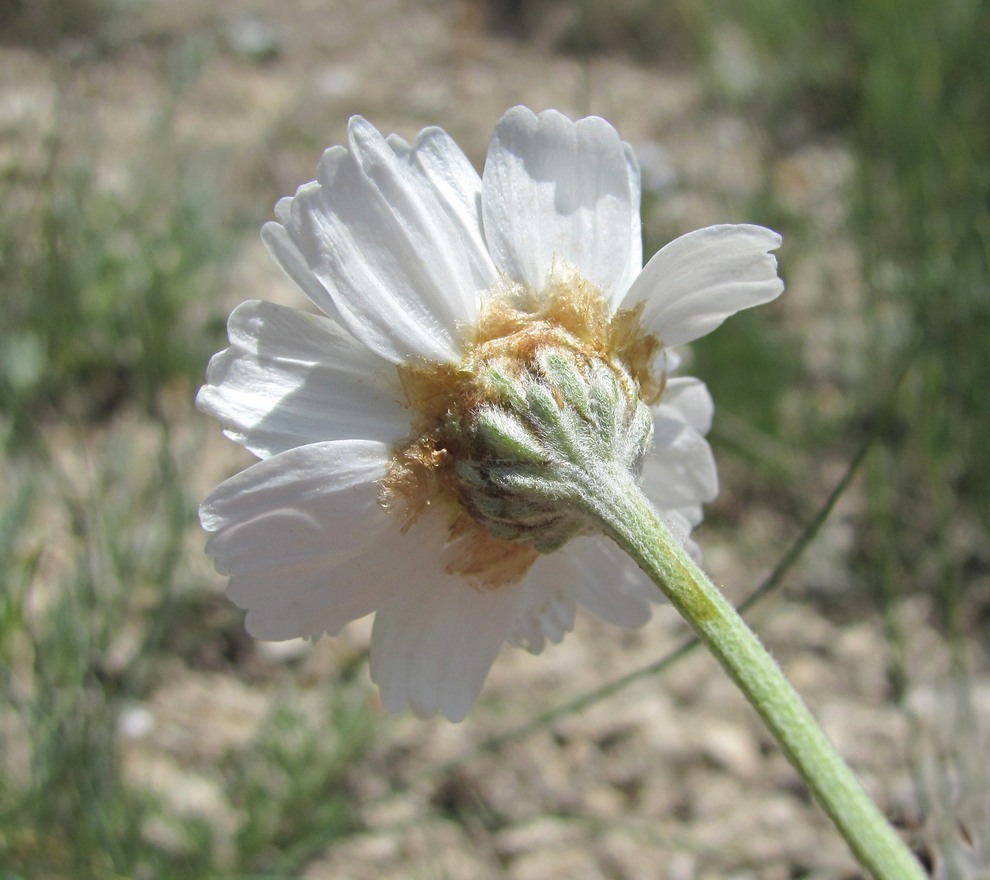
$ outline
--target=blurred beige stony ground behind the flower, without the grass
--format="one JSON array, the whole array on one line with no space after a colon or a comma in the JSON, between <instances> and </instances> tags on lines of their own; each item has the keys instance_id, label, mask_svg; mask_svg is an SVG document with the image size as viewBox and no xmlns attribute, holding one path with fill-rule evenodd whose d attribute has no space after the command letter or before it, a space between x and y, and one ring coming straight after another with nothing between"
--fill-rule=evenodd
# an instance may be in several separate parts
<instances>
[{"instance_id":1,"label":"blurred beige stony ground behind the flower, without the grass","mask_svg":"<svg viewBox=\"0 0 990 880\"><path fill-rule=\"evenodd\" d=\"M341 140L352 113L407 138L441 124L478 164L493 123L512 104L598 113L639 152L644 180L656 193L647 219L667 237L747 219L742 206L769 177L811 229L800 253L785 248L789 292L773 307L776 319L800 333L803 356L821 376L811 393L823 407L841 406L829 370L836 350L855 342L856 329L841 320L841 296L857 290L855 258L841 232L849 169L841 148L805 143L771 157L750 122L706 100L698 71L676 53L669 64L643 66L606 52L583 65L554 50L573 27L572 8L547 2L541 10L539 27L519 40L493 35L485 8L451 0L163 0L148 4L140 24L125 21L119 34L111 32L122 46L111 60L81 64L73 75L75 88L100 96L101 128L126 150L163 95L161 47L190 36L208 41L206 67L180 107L179 131L231 151L230 185L261 194L259 224L275 198L310 179L319 150ZM4 48L0 59L8 81L20 84L16 100L4 92L0 122L28 126L52 112L48 62L16 48ZM727 75L744 78L746 69L743 58ZM302 305L253 242L210 308L220 313L252 297ZM190 436L208 432L205 454L187 474L202 492L243 458L212 426L204 429L191 407L183 418ZM769 448L802 474L808 510L824 500L848 456ZM743 465L729 460L722 475L714 525L699 537L707 567L738 601L803 520L754 492ZM910 633L909 711L890 704L882 621L860 613L844 564L860 522L858 492L844 496L785 589L754 619L840 752L912 842L948 846L947 839L961 839L973 849L979 841L966 843L974 836L967 829L988 817L972 796L974 785L983 785L974 783L972 768L982 765L972 757L986 741L956 711L947 686L951 657L928 623L923 597L902 610ZM190 570L210 578L219 596L223 583L205 573L198 533L188 550ZM849 610L835 610L847 600ZM222 855L239 817L214 768L250 743L285 693L322 705L326 682L355 658L360 663L369 634L362 621L315 647L251 649L243 674L176 660L147 703L122 719L126 772L183 811L206 817L220 832ZM631 633L582 617L545 656L507 647L476 711L460 725L380 713L370 754L349 773L352 809L369 830L316 858L305 877L860 876L754 713L700 652L494 751L481 750L493 734L657 660L684 635L669 608ZM976 668L985 669L985 658L975 646L973 652ZM357 674L367 675L363 666ZM969 693L977 717L990 723L990 679L976 681ZM376 699L370 687L367 699ZM939 755L951 761L936 761ZM983 782L990 787L986 775ZM167 843L168 828L148 833Z\"/></svg>"}]
</instances>

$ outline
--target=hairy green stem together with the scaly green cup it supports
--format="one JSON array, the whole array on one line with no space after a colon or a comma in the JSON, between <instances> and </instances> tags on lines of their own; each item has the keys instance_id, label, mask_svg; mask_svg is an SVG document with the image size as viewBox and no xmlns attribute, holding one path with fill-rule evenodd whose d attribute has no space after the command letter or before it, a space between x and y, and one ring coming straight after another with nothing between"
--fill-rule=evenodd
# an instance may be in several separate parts
<instances>
[{"instance_id":1,"label":"hairy green stem together with the scaly green cup it supports","mask_svg":"<svg viewBox=\"0 0 990 880\"><path fill-rule=\"evenodd\" d=\"M527 540L540 552L597 525L725 667L863 867L876 880L923 880L780 667L633 481L653 438L653 415L633 377L574 340L539 349L525 369L493 361L480 386L489 403L466 426L454 425L472 452L456 470L472 516L496 537Z\"/></svg>"}]
</instances>

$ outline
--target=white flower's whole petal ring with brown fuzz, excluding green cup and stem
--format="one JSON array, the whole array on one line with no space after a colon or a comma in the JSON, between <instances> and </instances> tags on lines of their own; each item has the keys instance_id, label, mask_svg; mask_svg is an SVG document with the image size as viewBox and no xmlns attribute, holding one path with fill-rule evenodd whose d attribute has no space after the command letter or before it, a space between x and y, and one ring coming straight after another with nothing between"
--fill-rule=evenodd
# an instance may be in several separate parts
<instances>
[{"instance_id":1,"label":"white flower's whole petal ring with brown fuzz, excluding green cup and stem","mask_svg":"<svg viewBox=\"0 0 990 880\"><path fill-rule=\"evenodd\" d=\"M438 128L410 145L351 120L348 145L328 149L317 180L281 200L262 231L323 316L239 306L197 398L261 459L201 507L207 550L254 636L333 634L376 612L371 674L385 707L456 721L503 641L538 653L572 629L578 604L620 626L649 618L659 591L604 537L513 557L518 544L471 522L465 534L443 472L422 465L445 454L423 433L430 389L437 376L475 369L479 339L501 344L507 331L492 309L526 320L553 299L541 317L554 324L578 291L592 310L600 301L606 324L635 331L621 351L600 327L575 332L644 389L652 382L643 397L655 404L654 440L640 481L687 540L717 492L704 439L712 401L699 380L667 378L669 349L781 292L769 253L780 237L713 226L643 268L639 201L632 151L595 117L510 110L482 177ZM424 375L433 384L417 385ZM410 450L429 486L400 498L410 503L397 512L388 502L407 487L396 462Z\"/></svg>"}]
</instances>

